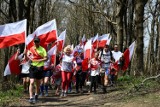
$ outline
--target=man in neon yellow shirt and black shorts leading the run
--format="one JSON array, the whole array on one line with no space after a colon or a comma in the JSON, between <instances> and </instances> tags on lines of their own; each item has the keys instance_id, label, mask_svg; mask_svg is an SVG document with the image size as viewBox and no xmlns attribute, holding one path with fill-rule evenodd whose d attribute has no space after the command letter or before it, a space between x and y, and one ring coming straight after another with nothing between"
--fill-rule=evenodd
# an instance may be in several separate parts
<instances>
[{"instance_id":1,"label":"man in neon yellow shirt and black shorts leading the run","mask_svg":"<svg viewBox=\"0 0 160 107\"><path fill-rule=\"evenodd\" d=\"M30 85L29 85L29 102L35 103L38 100L40 80L43 78L43 66L47 60L46 50L40 46L40 39L34 38L34 46L28 51L28 57L32 61L29 69ZM33 96L33 86L36 81L35 96Z\"/></svg>"}]
</instances>

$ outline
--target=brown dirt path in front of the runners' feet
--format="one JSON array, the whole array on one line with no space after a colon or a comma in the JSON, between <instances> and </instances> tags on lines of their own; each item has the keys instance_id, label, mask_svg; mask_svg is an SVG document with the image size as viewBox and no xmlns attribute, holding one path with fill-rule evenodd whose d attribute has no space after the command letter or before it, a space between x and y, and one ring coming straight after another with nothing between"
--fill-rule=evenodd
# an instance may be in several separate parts
<instances>
[{"instance_id":1,"label":"brown dirt path in front of the runners' feet","mask_svg":"<svg viewBox=\"0 0 160 107\"><path fill-rule=\"evenodd\" d=\"M40 97L36 104L28 103L28 95L25 95L14 103L14 106L40 106L40 107L160 107L160 91L139 96L126 97L124 90L109 89L108 93L102 94L76 94L74 90L66 98L54 95L54 90L49 91L48 97Z\"/></svg>"}]
</instances>

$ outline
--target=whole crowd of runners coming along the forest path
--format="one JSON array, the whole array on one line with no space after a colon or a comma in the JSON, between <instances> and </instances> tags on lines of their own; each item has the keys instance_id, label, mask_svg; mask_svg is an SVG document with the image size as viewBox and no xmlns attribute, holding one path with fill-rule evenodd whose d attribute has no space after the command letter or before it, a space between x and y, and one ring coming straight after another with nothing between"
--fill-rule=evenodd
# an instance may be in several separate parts
<instances>
[{"instance_id":1,"label":"whole crowd of runners coming along the forest path","mask_svg":"<svg viewBox=\"0 0 160 107\"><path fill-rule=\"evenodd\" d=\"M48 96L49 83L56 86L55 95L67 97L73 87L76 93L82 94L85 85L89 85L88 93L96 94L99 84L106 93L106 87L113 85L117 79L118 71L112 65L123 56L117 44L114 50L109 45L94 50L92 58L88 59L87 70L83 69L82 64L83 48L79 48L74 55L72 47L68 45L56 55L56 62L51 63L46 50L40 46L39 38L34 38L34 44L22 54L18 50L19 54L15 58L21 61L24 92L29 92L30 103L35 103L39 96Z\"/></svg>"}]
</instances>

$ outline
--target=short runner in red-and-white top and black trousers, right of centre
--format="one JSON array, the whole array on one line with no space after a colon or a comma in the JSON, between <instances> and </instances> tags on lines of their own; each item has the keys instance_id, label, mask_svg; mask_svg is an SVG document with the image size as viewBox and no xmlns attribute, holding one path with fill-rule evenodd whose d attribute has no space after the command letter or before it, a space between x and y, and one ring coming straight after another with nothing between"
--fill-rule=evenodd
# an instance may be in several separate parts
<instances>
[{"instance_id":1,"label":"short runner in red-and-white top and black trousers, right of centre","mask_svg":"<svg viewBox=\"0 0 160 107\"><path fill-rule=\"evenodd\" d=\"M101 62L98 58L99 54L98 52L95 53L94 58L92 58L89 62L89 66L91 69L90 72L90 79L91 79L91 86L90 86L90 93L92 92L92 88L94 87L94 93L96 94L97 90L97 83L98 83L98 76L99 76L99 68L101 65Z\"/></svg>"}]
</instances>

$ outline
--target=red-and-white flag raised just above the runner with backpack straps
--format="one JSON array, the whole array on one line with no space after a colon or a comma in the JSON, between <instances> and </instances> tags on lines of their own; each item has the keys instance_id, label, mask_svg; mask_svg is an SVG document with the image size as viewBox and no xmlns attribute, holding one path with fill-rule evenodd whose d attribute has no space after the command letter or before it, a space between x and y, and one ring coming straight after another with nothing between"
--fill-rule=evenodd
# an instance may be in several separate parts
<instances>
[{"instance_id":1,"label":"red-and-white flag raised just above the runner with backpack straps","mask_svg":"<svg viewBox=\"0 0 160 107\"><path fill-rule=\"evenodd\" d=\"M103 48L106 45L108 38L109 38L109 34L104 34L102 36L99 36L98 37L98 40L99 40L98 47Z\"/></svg>"}]
</instances>

